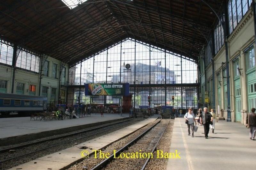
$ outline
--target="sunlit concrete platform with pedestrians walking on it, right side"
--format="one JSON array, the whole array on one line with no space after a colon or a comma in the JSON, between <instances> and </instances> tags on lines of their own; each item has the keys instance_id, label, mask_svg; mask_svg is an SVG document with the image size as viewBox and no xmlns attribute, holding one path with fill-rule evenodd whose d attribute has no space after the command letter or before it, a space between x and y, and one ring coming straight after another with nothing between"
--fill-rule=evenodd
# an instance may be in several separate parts
<instances>
[{"instance_id":1,"label":"sunlit concrete platform with pedestrians walking on it, right side","mask_svg":"<svg viewBox=\"0 0 256 170\"><path fill-rule=\"evenodd\" d=\"M167 170L255 169L256 140L249 139L244 125L219 121L208 139L198 127L194 137L188 136L184 118L175 119L170 152L177 149L181 159L169 159Z\"/></svg>"}]
</instances>

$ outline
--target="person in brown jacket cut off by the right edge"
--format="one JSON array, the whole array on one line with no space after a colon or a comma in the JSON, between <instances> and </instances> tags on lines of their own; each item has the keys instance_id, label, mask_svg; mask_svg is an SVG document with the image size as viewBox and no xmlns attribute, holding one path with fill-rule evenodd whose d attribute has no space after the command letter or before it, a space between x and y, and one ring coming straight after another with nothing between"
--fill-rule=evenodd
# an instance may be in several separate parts
<instances>
[{"instance_id":1,"label":"person in brown jacket cut off by the right edge","mask_svg":"<svg viewBox=\"0 0 256 170\"><path fill-rule=\"evenodd\" d=\"M256 113L255 108L252 108L249 114L246 115L246 126L250 127L250 139L254 140L255 133L256 133ZM249 119L249 120L248 120Z\"/></svg>"}]
</instances>

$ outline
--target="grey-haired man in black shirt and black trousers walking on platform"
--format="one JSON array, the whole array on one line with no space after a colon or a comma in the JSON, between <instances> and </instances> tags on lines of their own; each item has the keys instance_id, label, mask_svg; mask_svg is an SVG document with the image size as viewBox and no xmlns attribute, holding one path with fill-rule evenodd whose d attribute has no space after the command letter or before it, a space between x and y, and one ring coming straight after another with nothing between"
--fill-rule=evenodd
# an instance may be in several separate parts
<instances>
[{"instance_id":1,"label":"grey-haired man in black shirt and black trousers walking on platform","mask_svg":"<svg viewBox=\"0 0 256 170\"><path fill-rule=\"evenodd\" d=\"M204 112L200 115L200 122L204 125L204 137L208 139L210 124L212 124L212 115L208 112L208 108L204 107Z\"/></svg>"}]
</instances>

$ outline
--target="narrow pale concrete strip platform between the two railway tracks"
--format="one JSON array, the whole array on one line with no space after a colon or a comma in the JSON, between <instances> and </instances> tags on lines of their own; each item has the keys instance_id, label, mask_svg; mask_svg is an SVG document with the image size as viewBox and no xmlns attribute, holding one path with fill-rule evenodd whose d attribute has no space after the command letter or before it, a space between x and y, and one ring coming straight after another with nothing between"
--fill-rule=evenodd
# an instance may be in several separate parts
<instances>
[{"instance_id":1,"label":"narrow pale concrete strip platform between the two railway tracks","mask_svg":"<svg viewBox=\"0 0 256 170\"><path fill-rule=\"evenodd\" d=\"M46 155L44 157L29 161L25 164L11 168L11 170L16 169L33 169L33 170L43 170L43 169L66 169L70 165L78 161L82 161L84 158L81 157L81 152L86 150L87 152L84 156L88 154L94 154L95 150L101 150L109 144L132 134L134 131L146 126L150 122L154 122L158 115L154 115L151 118L143 120L141 122L135 123L131 126L125 127L123 129L116 130L109 134L88 140L84 143L78 144L71 148ZM86 149L83 149L85 147ZM36 163L35 163L36 162Z\"/></svg>"}]
</instances>

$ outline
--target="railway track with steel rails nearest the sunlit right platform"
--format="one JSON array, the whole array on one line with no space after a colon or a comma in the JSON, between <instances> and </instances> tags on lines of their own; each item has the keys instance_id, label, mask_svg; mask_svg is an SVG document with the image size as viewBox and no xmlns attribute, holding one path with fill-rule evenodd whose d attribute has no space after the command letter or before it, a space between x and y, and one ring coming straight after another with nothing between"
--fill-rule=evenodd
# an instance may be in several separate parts
<instances>
[{"instance_id":1,"label":"railway track with steel rails nearest the sunlit right platform","mask_svg":"<svg viewBox=\"0 0 256 170\"><path fill-rule=\"evenodd\" d=\"M130 159L128 160L127 164L124 164L122 158L116 158L119 157L120 153L134 153L139 150L142 151L143 148L145 149L143 152L146 152L147 150L147 152L153 154L170 122L170 120L165 120L163 123L161 122L161 120L155 122L150 128L143 131L138 137L134 138L131 142L125 144L121 149L116 151L115 154L112 154L111 156L109 156L109 158L104 159L98 165L94 166L92 170L116 169L120 166L122 166L124 169L145 169L150 158L140 160ZM151 148L150 151L149 148ZM141 164L143 161L144 164ZM132 165L134 165L134 167L131 167Z\"/></svg>"}]
</instances>

